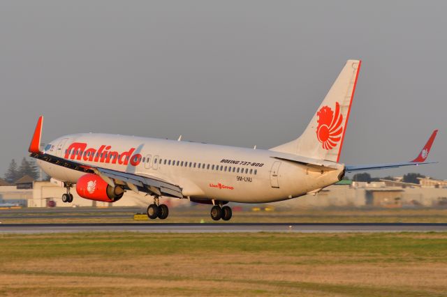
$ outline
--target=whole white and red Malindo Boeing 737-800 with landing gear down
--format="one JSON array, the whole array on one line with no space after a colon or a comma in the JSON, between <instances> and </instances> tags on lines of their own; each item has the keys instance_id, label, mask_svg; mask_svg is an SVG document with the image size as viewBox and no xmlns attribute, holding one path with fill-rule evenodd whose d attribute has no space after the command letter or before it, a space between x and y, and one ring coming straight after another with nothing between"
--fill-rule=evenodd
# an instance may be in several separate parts
<instances>
[{"instance_id":1,"label":"whole white and red Malindo Boeing 737-800 with landing gear down","mask_svg":"<svg viewBox=\"0 0 447 297\"><path fill-rule=\"evenodd\" d=\"M342 180L346 172L433 163L426 160L437 130L410 162L339 162L360 66L360 60L348 60L302 135L274 148L82 133L54 139L41 151L40 116L29 153L66 188L64 202L73 201L74 186L80 197L105 202L133 191L153 199L147 215L161 220L169 210L160 197L210 204L212 220L228 221L228 202L258 204L315 195Z\"/></svg>"}]
</instances>

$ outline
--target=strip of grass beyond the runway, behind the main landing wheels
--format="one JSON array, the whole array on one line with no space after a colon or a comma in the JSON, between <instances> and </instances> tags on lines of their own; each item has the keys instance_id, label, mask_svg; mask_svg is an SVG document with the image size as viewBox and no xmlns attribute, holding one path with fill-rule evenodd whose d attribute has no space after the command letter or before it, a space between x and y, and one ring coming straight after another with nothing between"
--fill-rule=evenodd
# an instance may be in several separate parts
<instances>
[{"instance_id":1,"label":"strip of grass beyond the runway, behind the main landing wheels","mask_svg":"<svg viewBox=\"0 0 447 297\"><path fill-rule=\"evenodd\" d=\"M33 208L31 208L32 210ZM135 210L112 212L89 212L89 208L58 208L45 213L29 213L20 211L1 211L0 222L3 224L21 223L72 223L72 222L147 222L134 221ZM22 211L30 211L24 208ZM144 210L141 210L144 212ZM36 215L39 218L36 218ZM75 216L75 217L73 217ZM166 220L151 220L157 222L214 222L210 218L210 207L171 208ZM222 223L223 221L219 221ZM235 211L230 222L447 222L447 209L295 209L288 211L252 212Z\"/></svg>"}]
</instances>

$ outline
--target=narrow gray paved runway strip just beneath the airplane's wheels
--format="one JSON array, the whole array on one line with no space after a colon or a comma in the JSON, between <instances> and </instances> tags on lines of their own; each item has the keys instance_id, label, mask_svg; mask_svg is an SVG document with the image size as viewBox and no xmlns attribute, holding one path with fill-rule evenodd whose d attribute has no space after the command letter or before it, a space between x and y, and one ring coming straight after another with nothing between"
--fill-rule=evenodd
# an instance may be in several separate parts
<instances>
[{"instance_id":1,"label":"narrow gray paved runway strip just beneath the airplane's wheels","mask_svg":"<svg viewBox=\"0 0 447 297\"><path fill-rule=\"evenodd\" d=\"M346 233L446 232L447 223L104 223L104 224L0 224L0 234L43 234L132 231L147 233Z\"/></svg>"}]
</instances>

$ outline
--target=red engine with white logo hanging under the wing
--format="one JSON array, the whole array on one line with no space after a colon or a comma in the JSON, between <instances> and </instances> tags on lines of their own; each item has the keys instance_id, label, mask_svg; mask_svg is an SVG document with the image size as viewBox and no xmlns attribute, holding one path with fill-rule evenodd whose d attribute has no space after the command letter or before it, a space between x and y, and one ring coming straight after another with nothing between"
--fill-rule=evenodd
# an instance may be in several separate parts
<instances>
[{"instance_id":1,"label":"red engine with white logo hanging under the wing","mask_svg":"<svg viewBox=\"0 0 447 297\"><path fill-rule=\"evenodd\" d=\"M85 199L115 202L123 197L124 188L120 185L112 187L96 174L85 174L78 179L76 192Z\"/></svg>"}]
</instances>

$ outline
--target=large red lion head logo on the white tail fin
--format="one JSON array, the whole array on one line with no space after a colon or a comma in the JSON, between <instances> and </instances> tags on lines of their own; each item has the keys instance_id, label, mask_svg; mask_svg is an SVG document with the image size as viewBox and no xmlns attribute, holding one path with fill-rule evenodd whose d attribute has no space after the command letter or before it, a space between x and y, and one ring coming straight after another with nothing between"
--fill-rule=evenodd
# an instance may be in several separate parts
<instances>
[{"instance_id":1,"label":"large red lion head logo on the white tail fin","mask_svg":"<svg viewBox=\"0 0 447 297\"><path fill-rule=\"evenodd\" d=\"M340 114L340 105L335 102L335 114L330 107L323 106L316 115L318 116L316 137L324 149L330 150L342 139L343 115Z\"/></svg>"}]
</instances>

